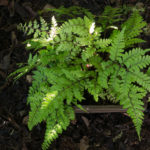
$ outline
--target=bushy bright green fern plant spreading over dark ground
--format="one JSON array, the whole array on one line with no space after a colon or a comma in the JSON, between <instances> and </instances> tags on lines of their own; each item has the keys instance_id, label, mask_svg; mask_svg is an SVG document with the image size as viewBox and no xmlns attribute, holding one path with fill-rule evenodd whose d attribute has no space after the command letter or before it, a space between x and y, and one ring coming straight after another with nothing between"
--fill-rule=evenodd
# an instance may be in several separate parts
<instances>
[{"instance_id":1,"label":"bushy bright green fern plant spreading over dark ground","mask_svg":"<svg viewBox=\"0 0 150 150\"><path fill-rule=\"evenodd\" d=\"M113 97L127 109L140 138L144 117L143 97L150 91L150 77L141 70L150 64L150 49L135 48L143 42L138 36L146 25L135 11L118 30L104 37L104 28L96 27L88 17L70 19L58 26L52 17L51 27L41 18L21 26L33 34L26 40L27 49L33 49L28 65L11 75L18 79L34 68L29 89L28 127L46 122L42 149L66 130L73 120L74 109L82 109L88 91L97 102L104 95ZM43 26L43 28L42 28ZM115 99L115 100L114 100Z\"/></svg>"}]
</instances>

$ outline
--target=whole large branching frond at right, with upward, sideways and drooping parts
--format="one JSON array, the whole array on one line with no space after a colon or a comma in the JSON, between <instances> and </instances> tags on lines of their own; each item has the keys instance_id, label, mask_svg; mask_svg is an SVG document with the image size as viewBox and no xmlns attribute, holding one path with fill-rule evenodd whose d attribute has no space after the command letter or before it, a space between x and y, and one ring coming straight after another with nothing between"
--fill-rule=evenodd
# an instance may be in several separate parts
<instances>
[{"instance_id":1,"label":"whole large branching frond at right, with upward, sideways and drooping parts","mask_svg":"<svg viewBox=\"0 0 150 150\"><path fill-rule=\"evenodd\" d=\"M113 71L106 77L102 77L102 81L105 81L105 88L111 89L111 93L116 96L117 101L123 105L123 108L127 109L127 113L132 118L135 125L137 134L140 138L140 131L143 120L143 102L141 99L145 96L146 91L150 90L150 78L141 72L141 69L150 64L150 57L145 56L145 53L149 50L142 50L140 48L132 49L129 52L124 53L125 40L124 32L117 32L116 41L110 47L110 59L115 60L115 64L109 67ZM119 37L119 38L118 38ZM118 39L117 39L118 38ZM121 39L121 43L118 41ZM116 46L114 48L114 45ZM121 47L119 47L119 46ZM110 70L109 70L110 71ZM104 73L107 71L104 71ZM105 75L106 76L106 75ZM109 77L109 78L108 78ZM106 81L107 79L107 81ZM108 83L107 83L108 82ZM99 82L100 83L100 82ZM135 85L138 83L138 85Z\"/></svg>"}]
</instances>

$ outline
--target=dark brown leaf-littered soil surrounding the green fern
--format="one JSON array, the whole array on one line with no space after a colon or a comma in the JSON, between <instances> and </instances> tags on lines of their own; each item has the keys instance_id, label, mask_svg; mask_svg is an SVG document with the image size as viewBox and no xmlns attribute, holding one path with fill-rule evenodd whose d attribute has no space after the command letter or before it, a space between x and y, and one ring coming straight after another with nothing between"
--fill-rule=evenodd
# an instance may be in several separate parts
<instances>
[{"instance_id":1,"label":"dark brown leaf-littered soil surrounding the green fern","mask_svg":"<svg viewBox=\"0 0 150 150\"><path fill-rule=\"evenodd\" d=\"M106 5L126 3L136 5L138 0L0 0L0 150L41 150L45 124L28 130L27 105L29 78L26 75L13 84L6 80L17 68L17 63L26 62L28 52L22 41L25 36L16 25L36 18L37 11L47 3L59 7L79 5L93 13L101 12ZM141 1L142 13L150 27L150 1ZM150 29L149 29L150 30ZM150 31L149 31L150 32ZM144 48L150 47L150 33L143 38ZM147 99L148 97L146 97ZM126 113L77 114L66 131L51 144L50 150L150 150L150 112L146 107L141 141L138 140L131 119Z\"/></svg>"}]
</instances>

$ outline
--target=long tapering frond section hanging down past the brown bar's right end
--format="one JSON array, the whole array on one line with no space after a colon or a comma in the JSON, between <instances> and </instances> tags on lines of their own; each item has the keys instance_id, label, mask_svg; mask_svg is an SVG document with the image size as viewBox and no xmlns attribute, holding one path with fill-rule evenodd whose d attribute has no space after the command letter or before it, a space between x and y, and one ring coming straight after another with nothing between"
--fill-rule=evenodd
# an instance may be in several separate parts
<instances>
[{"instance_id":1,"label":"long tapering frond section hanging down past the brown bar's right end","mask_svg":"<svg viewBox=\"0 0 150 150\"><path fill-rule=\"evenodd\" d=\"M135 80L130 72L126 72L125 69L116 70L115 74L110 76L109 87L111 87L111 92L113 94L115 93L120 105L127 109L127 113L132 118L137 134L140 138L142 120L144 116L144 103L141 99L145 96L146 90L133 85L132 83L134 81Z\"/></svg>"}]
</instances>

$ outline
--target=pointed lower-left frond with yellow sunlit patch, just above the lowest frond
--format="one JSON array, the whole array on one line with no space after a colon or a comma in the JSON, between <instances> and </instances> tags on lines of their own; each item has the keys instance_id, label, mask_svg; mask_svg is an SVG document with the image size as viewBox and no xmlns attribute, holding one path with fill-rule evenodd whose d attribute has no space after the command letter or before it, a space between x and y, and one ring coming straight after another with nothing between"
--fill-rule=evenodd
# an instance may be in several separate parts
<instances>
[{"instance_id":1,"label":"pointed lower-left frond with yellow sunlit patch, just above the lowest frond","mask_svg":"<svg viewBox=\"0 0 150 150\"><path fill-rule=\"evenodd\" d=\"M31 111L29 113L29 121L28 127L31 130L33 126L37 125L41 121L45 120L48 116L47 110L49 105L54 105L53 101L54 96L48 95L49 88L45 83L40 84L40 88L38 90L34 89L33 92L30 93L28 97L28 102L31 106ZM39 96L39 93L43 93ZM48 93L48 94L46 94ZM50 93L51 94L51 93ZM52 93L53 94L53 93ZM48 99L50 98L50 99ZM57 103L56 103L57 104ZM55 109L55 107L52 107Z\"/></svg>"}]
</instances>

